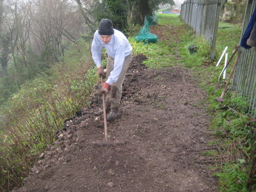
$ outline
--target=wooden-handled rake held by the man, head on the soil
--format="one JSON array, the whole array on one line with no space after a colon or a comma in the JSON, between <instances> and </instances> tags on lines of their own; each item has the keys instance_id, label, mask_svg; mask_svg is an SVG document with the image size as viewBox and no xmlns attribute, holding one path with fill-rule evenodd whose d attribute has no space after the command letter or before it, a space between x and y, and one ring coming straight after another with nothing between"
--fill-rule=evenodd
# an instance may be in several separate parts
<instances>
[{"instance_id":1,"label":"wooden-handled rake held by the man, head on the soil","mask_svg":"<svg viewBox=\"0 0 256 192\"><path fill-rule=\"evenodd\" d=\"M101 84L103 85L103 77L101 76ZM104 134L105 138L102 141L95 141L93 142L93 145L98 146L108 146L108 145L121 145L124 143L124 141L118 141L115 140L113 142L108 141L108 128L107 128L107 113L106 113L106 99L105 95L102 94L102 103L103 103L103 117L104 117Z\"/></svg>"}]
</instances>

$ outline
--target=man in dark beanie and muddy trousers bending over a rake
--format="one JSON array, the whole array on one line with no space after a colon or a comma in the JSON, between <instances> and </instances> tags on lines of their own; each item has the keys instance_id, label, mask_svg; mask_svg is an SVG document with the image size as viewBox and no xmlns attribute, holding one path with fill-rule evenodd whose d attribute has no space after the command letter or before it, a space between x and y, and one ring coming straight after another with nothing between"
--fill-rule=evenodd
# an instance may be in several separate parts
<instances>
[{"instance_id":1,"label":"man in dark beanie and muddy trousers bending over a rake","mask_svg":"<svg viewBox=\"0 0 256 192\"><path fill-rule=\"evenodd\" d=\"M106 95L106 111L109 122L116 119L120 100L122 97L122 84L127 69L132 60L132 46L125 35L113 29L113 23L109 19L102 19L99 29L95 31L92 41L92 58L97 65L99 77L105 77L101 63L102 47L108 52L106 82L102 85L100 95ZM100 111L102 113L103 111Z\"/></svg>"}]
</instances>

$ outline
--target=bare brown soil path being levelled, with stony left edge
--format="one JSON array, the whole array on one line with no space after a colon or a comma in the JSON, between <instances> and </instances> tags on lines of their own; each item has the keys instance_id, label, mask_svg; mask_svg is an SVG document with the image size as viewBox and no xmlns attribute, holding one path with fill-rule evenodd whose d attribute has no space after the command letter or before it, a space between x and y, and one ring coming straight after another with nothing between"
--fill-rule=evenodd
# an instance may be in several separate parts
<instances>
[{"instance_id":1,"label":"bare brown soil path being levelled, with stony left edge","mask_svg":"<svg viewBox=\"0 0 256 192\"><path fill-rule=\"evenodd\" d=\"M102 100L65 122L58 140L40 156L21 191L218 191L218 180L202 162L212 140L194 77L180 68L150 70L134 56L124 82L118 119L104 139Z\"/></svg>"}]
</instances>

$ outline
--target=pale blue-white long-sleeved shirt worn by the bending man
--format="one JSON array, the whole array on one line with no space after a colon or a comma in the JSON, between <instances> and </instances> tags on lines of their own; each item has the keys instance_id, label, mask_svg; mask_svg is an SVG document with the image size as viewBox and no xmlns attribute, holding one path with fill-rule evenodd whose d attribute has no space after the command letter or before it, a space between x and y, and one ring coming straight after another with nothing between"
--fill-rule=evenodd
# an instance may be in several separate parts
<instances>
[{"instance_id":1,"label":"pale blue-white long-sleeved shirt worn by the bending man","mask_svg":"<svg viewBox=\"0 0 256 192\"><path fill-rule=\"evenodd\" d=\"M92 58L97 67L101 67L101 51L102 47L106 48L108 56L114 58L114 69L110 72L110 75L106 81L108 84L113 84L118 80L118 77L122 71L125 57L131 54L132 46L129 43L126 36L117 29L114 29L115 33L112 35L108 44L104 44L100 39L98 30L95 31L92 41Z\"/></svg>"}]
</instances>

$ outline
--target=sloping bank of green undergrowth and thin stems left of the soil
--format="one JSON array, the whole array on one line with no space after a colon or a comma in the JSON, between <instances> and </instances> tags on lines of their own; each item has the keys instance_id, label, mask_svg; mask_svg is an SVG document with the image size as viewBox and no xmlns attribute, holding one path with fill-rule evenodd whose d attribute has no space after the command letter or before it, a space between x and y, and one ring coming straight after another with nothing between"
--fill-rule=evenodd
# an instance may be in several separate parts
<instances>
[{"instance_id":1,"label":"sloping bank of green undergrowth and thin stems left of the soil","mask_svg":"<svg viewBox=\"0 0 256 192\"><path fill-rule=\"evenodd\" d=\"M97 81L84 40L70 46L54 67L24 84L19 93L1 108L0 186L20 185L29 167L63 129L64 120L74 117L88 104ZM0 188L1 189L1 188Z\"/></svg>"}]
</instances>

